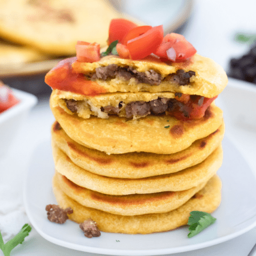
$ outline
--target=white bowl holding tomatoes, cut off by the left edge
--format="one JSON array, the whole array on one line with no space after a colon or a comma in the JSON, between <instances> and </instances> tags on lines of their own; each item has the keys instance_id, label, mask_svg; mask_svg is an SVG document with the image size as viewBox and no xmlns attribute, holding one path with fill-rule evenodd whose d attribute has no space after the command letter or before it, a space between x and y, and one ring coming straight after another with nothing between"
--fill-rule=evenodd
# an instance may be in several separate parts
<instances>
[{"instance_id":1,"label":"white bowl holding tomatoes, cut off by the left edge","mask_svg":"<svg viewBox=\"0 0 256 256\"><path fill-rule=\"evenodd\" d=\"M33 94L17 89L12 89L12 91L20 102L0 113L0 157L7 152L29 110L37 103L37 98Z\"/></svg>"}]
</instances>

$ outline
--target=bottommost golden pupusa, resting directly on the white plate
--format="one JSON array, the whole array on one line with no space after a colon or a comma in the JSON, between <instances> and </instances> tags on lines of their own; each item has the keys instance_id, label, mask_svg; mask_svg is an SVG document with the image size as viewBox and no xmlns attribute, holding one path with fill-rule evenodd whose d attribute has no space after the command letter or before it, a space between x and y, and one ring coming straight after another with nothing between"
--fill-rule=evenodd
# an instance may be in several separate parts
<instances>
[{"instance_id":1,"label":"bottommost golden pupusa, resting directly on the white plate","mask_svg":"<svg viewBox=\"0 0 256 256\"><path fill-rule=\"evenodd\" d=\"M221 181L217 175L187 203L166 213L133 216L111 214L78 204L63 193L58 183L54 181L53 191L60 207L73 209L74 212L69 215L70 220L82 223L91 218L97 222L101 231L125 234L150 234L178 228L187 224L191 211L211 213L217 209L221 201Z\"/></svg>"}]
</instances>

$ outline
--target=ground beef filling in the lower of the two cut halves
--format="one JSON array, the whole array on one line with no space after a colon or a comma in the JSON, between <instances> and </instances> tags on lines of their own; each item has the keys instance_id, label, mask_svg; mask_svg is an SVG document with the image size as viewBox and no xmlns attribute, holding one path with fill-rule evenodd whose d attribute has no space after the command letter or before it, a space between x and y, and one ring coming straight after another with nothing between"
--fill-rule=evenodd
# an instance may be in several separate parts
<instances>
[{"instance_id":1,"label":"ground beef filling in the lower of the two cut halves","mask_svg":"<svg viewBox=\"0 0 256 256\"><path fill-rule=\"evenodd\" d=\"M179 94L179 93L178 93ZM177 96L178 96L177 94ZM176 94L175 94L176 95ZM190 95L193 97L194 101L198 101L198 106L201 105L204 97L197 95ZM77 111L76 101L75 100L65 100L67 104L67 108L73 113ZM179 111L183 114L184 117L189 117L189 112L191 111L189 105L178 101L177 99L169 99L169 98L158 98L156 100L151 101L132 101L124 106L124 103L119 102L118 107L114 106L106 106L101 107L100 110L109 115L118 115L122 109L125 109L125 116L127 118L132 118L133 116L147 116L147 115L161 115L166 111L171 113L173 111Z\"/></svg>"}]
</instances>

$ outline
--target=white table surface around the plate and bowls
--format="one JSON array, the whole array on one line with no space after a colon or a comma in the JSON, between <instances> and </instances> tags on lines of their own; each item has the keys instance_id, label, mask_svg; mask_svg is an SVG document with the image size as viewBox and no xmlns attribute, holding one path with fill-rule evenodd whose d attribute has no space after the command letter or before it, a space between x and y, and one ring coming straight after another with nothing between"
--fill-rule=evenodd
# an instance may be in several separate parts
<instances>
[{"instance_id":1,"label":"white table surface around the plate and bowls","mask_svg":"<svg viewBox=\"0 0 256 256\"><path fill-rule=\"evenodd\" d=\"M232 41L234 34L237 31L256 33L255 10L256 1L197 0L184 34L199 54L214 59L227 70L229 58L246 51L244 45ZM0 184L9 183L14 190L22 193L22 181L29 168L31 156L40 143L50 140L50 127L53 121L48 99L40 100L15 135L7 155L0 159ZM256 132L227 125L226 134L239 148L256 175ZM219 245L171 255L245 256L255 242L256 228ZM12 253L19 256L98 255L52 244L37 234L35 229L31 231L23 246L17 246Z\"/></svg>"}]
</instances>

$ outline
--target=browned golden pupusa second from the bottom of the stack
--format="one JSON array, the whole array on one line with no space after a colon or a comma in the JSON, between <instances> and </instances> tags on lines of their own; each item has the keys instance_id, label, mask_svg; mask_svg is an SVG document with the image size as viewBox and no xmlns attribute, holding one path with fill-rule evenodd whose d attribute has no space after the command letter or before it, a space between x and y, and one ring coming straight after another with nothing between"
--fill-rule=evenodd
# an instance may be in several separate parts
<instances>
[{"instance_id":1,"label":"browned golden pupusa second from the bottom of the stack","mask_svg":"<svg viewBox=\"0 0 256 256\"><path fill-rule=\"evenodd\" d=\"M79 204L101 211L120 215L141 215L169 212L185 204L201 190L206 181L183 191L165 191L153 194L113 196L77 186L65 176L55 173L54 182L61 190Z\"/></svg>"}]
</instances>

